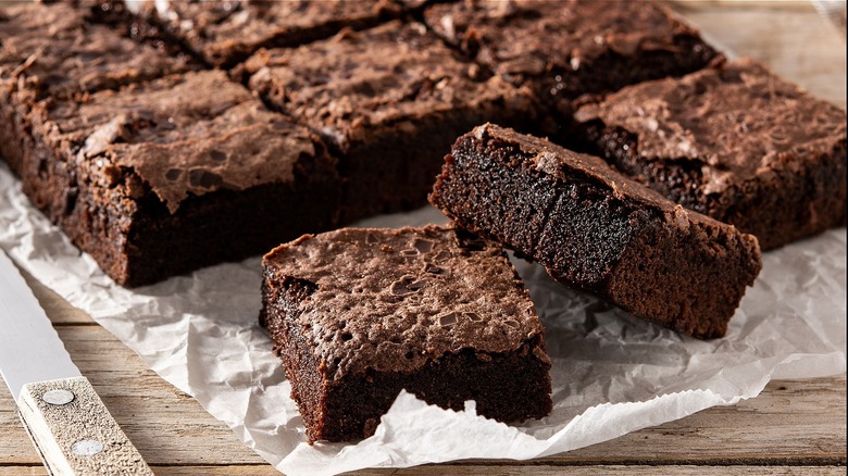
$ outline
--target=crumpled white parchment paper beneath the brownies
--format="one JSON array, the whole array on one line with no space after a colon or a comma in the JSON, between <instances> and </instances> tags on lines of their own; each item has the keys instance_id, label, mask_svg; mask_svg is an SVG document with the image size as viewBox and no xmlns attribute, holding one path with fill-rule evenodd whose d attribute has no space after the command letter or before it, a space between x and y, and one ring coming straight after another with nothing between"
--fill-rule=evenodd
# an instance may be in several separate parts
<instances>
[{"instance_id":1,"label":"crumpled white parchment paper beneath the brownies","mask_svg":"<svg viewBox=\"0 0 848 476\"><path fill-rule=\"evenodd\" d=\"M363 225L444 222L425 209ZM508 426L476 416L473 402L451 412L401 393L372 438L310 447L280 362L257 323L259 258L124 289L33 209L4 164L0 247L290 475L532 459L756 397L771 378L846 369L845 228L766 253L727 336L711 341L629 317L513 260L543 316L553 361L549 417Z\"/></svg>"}]
</instances>

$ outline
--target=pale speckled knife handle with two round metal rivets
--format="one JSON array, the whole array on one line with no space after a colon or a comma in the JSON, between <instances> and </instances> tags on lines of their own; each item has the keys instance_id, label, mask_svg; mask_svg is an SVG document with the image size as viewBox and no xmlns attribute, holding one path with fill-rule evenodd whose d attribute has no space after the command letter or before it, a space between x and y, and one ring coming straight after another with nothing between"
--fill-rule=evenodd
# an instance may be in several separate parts
<instances>
[{"instance_id":1,"label":"pale speckled knife handle with two round metal rivets","mask_svg":"<svg viewBox=\"0 0 848 476\"><path fill-rule=\"evenodd\" d=\"M21 419L52 475L152 475L85 377L27 384Z\"/></svg>"}]
</instances>

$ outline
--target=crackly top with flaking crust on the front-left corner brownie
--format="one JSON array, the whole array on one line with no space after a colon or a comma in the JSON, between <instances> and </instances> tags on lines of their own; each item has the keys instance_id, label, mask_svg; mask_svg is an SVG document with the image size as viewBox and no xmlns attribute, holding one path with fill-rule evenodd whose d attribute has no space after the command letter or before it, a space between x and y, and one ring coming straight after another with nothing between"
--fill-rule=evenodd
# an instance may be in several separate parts
<instances>
[{"instance_id":1,"label":"crackly top with flaking crust on the front-left corner brownie","mask_svg":"<svg viewBox=\"0 0 848 476\"><path fill-rule=\"evenodd\" d=\"M289 181L301 158L328 161L313 134L221 71L57 101L42 115L75 160L105 177L120 175L110 167L133 170L172 213L189 193Z\"/></svg>"}]
</instances>

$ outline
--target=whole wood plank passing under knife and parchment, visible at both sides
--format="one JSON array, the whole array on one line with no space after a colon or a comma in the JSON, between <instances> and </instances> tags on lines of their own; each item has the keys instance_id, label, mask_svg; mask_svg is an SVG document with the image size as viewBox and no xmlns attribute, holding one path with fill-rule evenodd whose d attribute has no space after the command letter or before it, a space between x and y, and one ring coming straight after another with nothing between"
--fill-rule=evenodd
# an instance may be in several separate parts
<instances>
[{"instance_id":1,"label":"whole wood plank passing under knife and parchment, visible at both sides","mask_svg":"<svg viewBox=\"0 0 848 476\"><path fill-rule=\"evenodd\" d=\"M59 331L80 371L151 465L262 463L224 424L146 368L105 329L63 326ZM772 383L760 397L737 405L710 409L536 463L844 462L845 386L845 376ZM0 390L0 464L38 461L11 397Z\"/></svg>"}]
</instances>

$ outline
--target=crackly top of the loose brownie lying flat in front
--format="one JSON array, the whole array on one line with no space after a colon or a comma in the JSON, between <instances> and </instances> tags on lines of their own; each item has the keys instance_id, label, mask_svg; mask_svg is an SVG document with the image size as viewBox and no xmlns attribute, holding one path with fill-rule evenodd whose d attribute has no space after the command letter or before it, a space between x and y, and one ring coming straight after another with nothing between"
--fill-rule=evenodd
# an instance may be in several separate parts
<instances>
[{"instance_id":1,"label":"crackly top of the loose brownie lying flat in front","mask_svg":"<svg viewBox=\"0 0 848 476\"><path fill-rule=\"evenodd\" d=\"M276 280L314 284L297 324L334 378L412 372L462 349L485 360L541 333L502 249L450 227L345 228L283 245L264 261Z\"/></svg>"}]
</instances>

